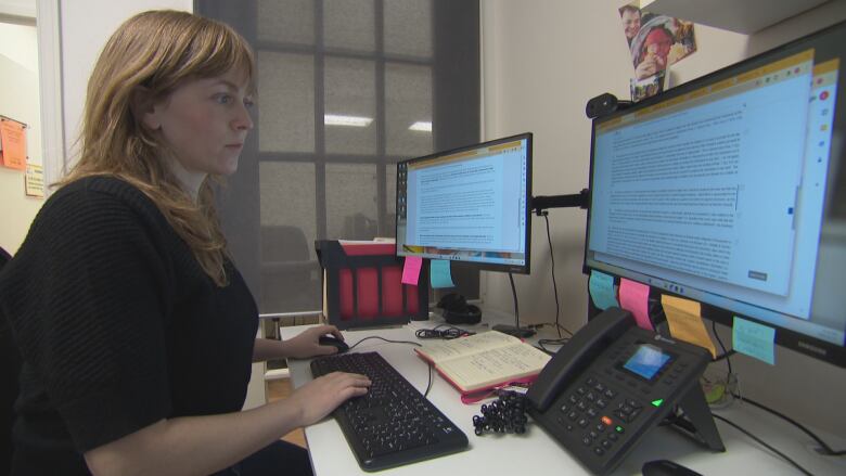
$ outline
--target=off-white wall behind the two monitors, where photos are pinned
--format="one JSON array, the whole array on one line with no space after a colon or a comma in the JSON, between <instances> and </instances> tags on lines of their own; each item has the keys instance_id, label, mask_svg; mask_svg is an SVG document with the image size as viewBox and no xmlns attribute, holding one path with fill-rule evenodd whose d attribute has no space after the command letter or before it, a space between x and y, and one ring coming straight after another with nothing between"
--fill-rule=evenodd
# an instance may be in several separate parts
<instances>
[{"instance_id":1,"label":"off-white wall behind the two monitors, where photos are pinned","mask_svg":"<svg viewBox=\"0 0 846 476\"><path fill-rule=\"evenodd\" d=\"M617 8L627 0L482 0L485 137L535 132L534 194L576 193L588 185L590 121L585 104L603 92L627 99L633 70ZM698 51L674 67L676 83L765 51L846 18L846 2L830 2L753 36L696 25ZM585 211L550 210L562 323L586 322L587 278L581 273ZM555 316L543 220L533 220L531 274L515 275L522 322ZM483 273L487 307L511 311L508 276ZM731 342L730 335L728 340ZM777 349L777 366L732 359L752 398L800 422L846 437L844 371Z\"/></svg>"}]
</instances>

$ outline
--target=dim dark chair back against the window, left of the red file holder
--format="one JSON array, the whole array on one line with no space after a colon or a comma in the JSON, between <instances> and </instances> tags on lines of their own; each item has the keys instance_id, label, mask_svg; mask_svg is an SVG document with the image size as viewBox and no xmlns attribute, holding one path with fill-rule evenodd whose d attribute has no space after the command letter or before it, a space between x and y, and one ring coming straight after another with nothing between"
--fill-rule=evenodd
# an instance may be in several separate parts
<instances>
[{"instance_id":1,"label":"dim dark chair back against the window, left of the red file holder","mask_svg":"<svg viewBox=\"0 0 846 476\"><path fill-rule=\"evenodd\" d=\"M319 309L320 265L311 258L303 230L291 226L261 227L260 239L260 312Z\"/></svg>"}]
</instances>

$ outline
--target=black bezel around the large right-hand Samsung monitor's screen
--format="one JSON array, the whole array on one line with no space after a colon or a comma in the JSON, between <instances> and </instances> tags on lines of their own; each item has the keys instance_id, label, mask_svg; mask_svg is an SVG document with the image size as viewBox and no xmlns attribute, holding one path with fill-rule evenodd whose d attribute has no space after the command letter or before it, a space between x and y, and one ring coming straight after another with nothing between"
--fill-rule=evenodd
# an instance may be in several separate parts
<instances>
[{"instance_id":1,"label":"black bezel around the large right-hand Samsung monitor's screen","mask_svg":"<svg viewBox=\"0 0 846 476\"><path fill-rule=\"evenodd\" d=\"M638 110L642 110L645 107L653 106L655 104L663 103L665 101L671 100L676 97L679 97L681 94L688 93L692 90L702 88L703 86L707 86L710 83L715 83L719 80L726 79L728 77L733 77L739 74L742 74L743 72L754 69L756 67L759 67L764 64L770 63L779 57L785 57L790 54L803 51L808 48L809 43L813 42L815 40L824 37L826 35L832 34L834 30L844 30L846 31L846 22L841 22L838 24L832 25L830 27L820 29L818 31L815 31L810 35L800 37L796 40L790 41L785 44L782 44L780 47L767 50L765 52L761 52L759 54L756 54L754 56L751 56L746 60L742 60L740 62L736 62L734 64L731 64L729 66L722 67L720 69L717 69L713 73L709 73L707 75L704 75L702 77L692 79L683 85L679 85L675 88L671 88L667 91L664 91L662 93L658 93L654 97L644 99L636 104L632 104L630 107L618 110L616 112L613 112L611 114L597 117L592 120L591 124L591 142L590 142L590 175L589 175L589 183L593 184L593 166L594 166L594 151L595 151L595 140L597 140L597 126L599 124L603 124L607 120L613 120L617 117L620 117L625 114L629 114L632 112L636 112ZM846 48L844 48L844 52L846 53ZM837 79L838 85L845 85L846 83L846 54L841 56L841 73ZM846 108L846 88L838 88L837 97L836 97L836 104L839 110ZM838 125L836 123L837 117L843 117L844 113L835 114L834 119L835 123L833 125L833 130L844 130L846 129L846 125ZM832 149L834 150L834 138L832 138ZM841 158L839 160L846 160L844 158ZM843 162L841 163L844 164ZM644 278L645 274L632 272L629 270L621 269L619 267L611 267L611 266L590 266L588 263L588 253L589 253L589 243L590 243L590 220L591 220L591 206L593 204L593 196L589 192L588 194L588 209L587 209L587 218L586 218L586 228L585 228L585 254L584 254L584 261L582 261L582 272L585 274L589 274L591 270L595 269L598 271L601 271L603 273L612 274L615 278L626 278L633 281L638 281L644 284L650 284L649 278ZM620 270L623 272L620 272ZM671 291L667 290L658 290L657 287L651 286L657 291L661 292L661 294L670 295L670 296L677 296L682 298L690 298L689 296L679 295L677 293L674 293ZM846 368L846 343L844 345L837 345L833 344L826 340L819 339L813 336L809 336L807 334L803 334L800 332L782 327L769 322L757 320L753 317L744 316L740 312L730 311L728 309L714 306L707 303L702 303L702 317L704 319L708 319L710 321L727 325L731 327L733 325L734 317L739 317L748 321L757 322L766 326L770 326L776 329L776 344L790 348L792 350L795 350L799 353L804 353L809 357L813 357L816 359L819 359L821 361L831 363L833 365L839 366L839 368Z\"/></svg>"}]
</instances>

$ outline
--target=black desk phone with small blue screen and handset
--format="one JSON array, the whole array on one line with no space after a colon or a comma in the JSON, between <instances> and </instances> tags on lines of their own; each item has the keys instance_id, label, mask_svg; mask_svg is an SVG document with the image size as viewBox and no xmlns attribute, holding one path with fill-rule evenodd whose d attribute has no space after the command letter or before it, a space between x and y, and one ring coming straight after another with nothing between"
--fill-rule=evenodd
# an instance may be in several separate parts
<instances>
[{"instance_id":1,"label":"black desk phone with small blue screen and handset","mask_svg":"<svg viewBox=\"0 0 846 476\"><path fill-rule=\"evenodd\" d=\"M705 446L725 451L698 386L709 361L704 348L640 329L611 308L543 368L527 410L595 474L613 471L677 404Z\"/></svg>"}]
</instances>

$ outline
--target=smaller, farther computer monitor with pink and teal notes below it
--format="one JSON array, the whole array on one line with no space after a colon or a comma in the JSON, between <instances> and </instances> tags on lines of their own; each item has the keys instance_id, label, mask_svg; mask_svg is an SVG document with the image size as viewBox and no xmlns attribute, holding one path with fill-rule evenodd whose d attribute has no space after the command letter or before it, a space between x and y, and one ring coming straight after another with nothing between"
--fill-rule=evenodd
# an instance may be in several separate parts
<instances>
[{"instance_id":1,"label":"smaller, farther computer monitor with pink and teal notes below it","mask_svg":"<svg viewBox=\"0 0 846 476\"><path fill-rule=\"evenodd\" d=\"M529 272L531 133L397 164L397 255Z\"/></svg>"}]
</instances>

